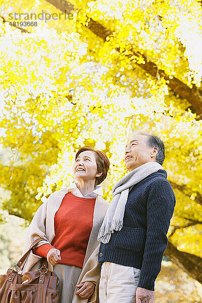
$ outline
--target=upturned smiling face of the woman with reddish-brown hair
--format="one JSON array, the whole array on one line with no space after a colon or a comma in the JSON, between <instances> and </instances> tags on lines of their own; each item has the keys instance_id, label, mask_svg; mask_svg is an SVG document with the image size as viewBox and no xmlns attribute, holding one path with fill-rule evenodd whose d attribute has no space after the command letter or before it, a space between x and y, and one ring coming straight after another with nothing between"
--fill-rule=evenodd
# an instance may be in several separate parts
<instances>
[{"instance_id":1,"label":"upturned smiling face of the woman with reddish-brown hair","mask_svg":"<svg viewBox=\"0 0 202 303\"><path fill-rule=\"evenodd\" d=\"M95 177L101 174L97 173L97 164L95 153L92 150L85 150L79 154L73 166L73 177L77 181L95 181Z\"/></svg>"}]
</instances>

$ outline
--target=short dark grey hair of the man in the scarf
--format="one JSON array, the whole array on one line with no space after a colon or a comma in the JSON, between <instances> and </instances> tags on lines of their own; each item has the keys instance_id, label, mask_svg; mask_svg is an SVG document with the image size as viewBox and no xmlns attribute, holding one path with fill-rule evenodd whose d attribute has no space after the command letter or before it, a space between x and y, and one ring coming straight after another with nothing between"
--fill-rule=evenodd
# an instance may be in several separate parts
<instances>
[{"instance_id":1,"label":"short dark grey hair of the man in the scarf","mask_svg":"<svg viewBox=\"0 0 202 303\"><path fill-rule=\"evenodd\" d=\"M135 135L141 135L141 136L146 136L147 138L147 146L148 147L157 147L158 148L158 154L156 156L156 162L159 164L164 163L165 159L165 145L164 142L155 135L147 134L147 133L138 133Z\"/></svg>"}]
</instances>

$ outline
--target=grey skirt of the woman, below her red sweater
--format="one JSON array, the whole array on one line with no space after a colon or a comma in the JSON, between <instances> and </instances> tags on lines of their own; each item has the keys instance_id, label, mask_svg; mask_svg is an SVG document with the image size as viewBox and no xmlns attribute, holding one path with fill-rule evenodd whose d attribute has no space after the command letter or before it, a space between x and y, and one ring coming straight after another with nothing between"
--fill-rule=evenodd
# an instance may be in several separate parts
<instances>
[{"instance_id":1,"label":"grey skirt of the woman, below her red sweater","mask_svg":"<svg viewBox=\"0 0 202 303\"><path fill-rule=\"evenodd\" d=\"M59 290L60 300L59 303L72 303L75 285L82 268L64 264L54 265L54 275L60 280L57 287Z\"/></svg>"}]
</instances>

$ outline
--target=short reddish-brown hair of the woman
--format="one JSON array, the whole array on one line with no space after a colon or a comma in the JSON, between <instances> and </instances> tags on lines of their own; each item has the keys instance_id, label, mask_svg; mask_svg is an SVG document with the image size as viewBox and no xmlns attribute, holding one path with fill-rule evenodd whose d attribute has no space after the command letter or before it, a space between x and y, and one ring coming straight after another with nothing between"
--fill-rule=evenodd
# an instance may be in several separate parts
<instances>
[{"instance_id":1,"label":"short reddish-brown hair of the woman","mask_svg":"<svg viewBox=\"0 0 202 303\"><path fill-rule=\"evenodd\" d=\"M95 161L97 164L97 173L102 173L101 176L95 178L95 186L102 183L105 178L107 177L107 173L110 167L110 161L108 157L103 153L101 150L95 150L92 146L83 146L79 148L79 150L76 153L75 160L85 150L91 150L95 153Z\"/></svg>"}]
</instances>

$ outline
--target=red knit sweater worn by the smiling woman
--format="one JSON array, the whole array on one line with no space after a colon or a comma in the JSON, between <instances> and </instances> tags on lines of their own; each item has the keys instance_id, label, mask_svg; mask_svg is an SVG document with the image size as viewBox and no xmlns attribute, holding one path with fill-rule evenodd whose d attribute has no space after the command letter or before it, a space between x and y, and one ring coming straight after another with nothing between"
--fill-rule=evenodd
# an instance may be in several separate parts
<instances>
[{"instance_id":1,"label":"red knit sweater worn by the smiling woman","mask_svg":"<svg viewBox=\"0 0 202 303\"><path fill-rule=\"evenodd\" d=\"M51 248L61 252L58 264L82 268L92 229L95 198L83 198L68 192L54 218L55 237L51 244L33 250L35 255L47 257Z\"/></svg>"}]
</instances>

